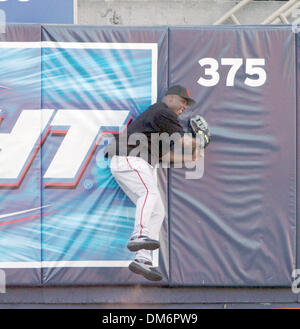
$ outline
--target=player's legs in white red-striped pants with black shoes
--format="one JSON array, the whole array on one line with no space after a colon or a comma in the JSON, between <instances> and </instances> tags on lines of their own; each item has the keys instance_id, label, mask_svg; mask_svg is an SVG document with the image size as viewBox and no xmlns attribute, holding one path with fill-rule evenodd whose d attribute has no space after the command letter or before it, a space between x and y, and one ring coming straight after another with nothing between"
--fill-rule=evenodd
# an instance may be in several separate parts
<instances>
[{"instance_id":1,"label":"player's legs in white red-striped pants with black shoes","mask_svg":"<svg viewBox=\"0 0 300 329\"><path fill-rule=\"evenodd\" d=\"M148 280L160 281L163 277L153 267L150 251L158 248L159 242L149 235L158 236L164 210L161 210L162 201L153 168L139 158L117 158L112 159L111 172L122 190L136 204L135 227L128 248L138 252L129 269Z\"/></svg>"}]
</instances>

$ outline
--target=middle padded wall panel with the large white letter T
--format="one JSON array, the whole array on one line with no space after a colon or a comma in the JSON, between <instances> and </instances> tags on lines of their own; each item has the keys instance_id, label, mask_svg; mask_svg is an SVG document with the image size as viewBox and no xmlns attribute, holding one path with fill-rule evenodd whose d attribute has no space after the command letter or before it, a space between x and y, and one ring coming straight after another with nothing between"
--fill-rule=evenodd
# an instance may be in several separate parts
<instances>
[{"instance_id":1,"label":"middle padded wall panel with the large white letter T","mask_svg":"<svg viewBox=\"0 0 300 329\"><path fill-rule=\"evenodd\" d=\"M115 33L43 26L42 108L53 114L42 148L42 204L50 212L42 219L43 284L149 283L127 268L135 257L126 248L135 205L114 180L103 147L107 134L122 131L166 89L157 72L167 30ZM167 230L162 235L167 239ZM167 246L153 253L162 284Z\"/></svg>"}]
</instances>

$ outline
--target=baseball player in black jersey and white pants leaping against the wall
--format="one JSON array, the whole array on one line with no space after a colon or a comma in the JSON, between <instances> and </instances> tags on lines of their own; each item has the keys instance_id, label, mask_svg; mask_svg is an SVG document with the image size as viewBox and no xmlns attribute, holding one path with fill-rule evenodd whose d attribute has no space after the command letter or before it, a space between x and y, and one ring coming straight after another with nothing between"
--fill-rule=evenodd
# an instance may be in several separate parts
<instances>
[{"instance_id":1,"label":"baseball player in black jersey and white pants leaping against the wall","mask_svg":"<svg viewBox=\"0 0 300 329\"><path fill-rule=\"evenodd\" d=\"M160 247L159 231L165 217L154 170L155 165L166 156L159 145L151 145L151 135L177 133L180 143L192 148L192 160L196 160L196 140L184 133L178 121L178 116L194 103L186 88L180 85L170 87L161 102L151 105L128 125L123 133L127 137L125 144L122 145L120 134L105 149L106 156L111 158L111 173L136 205L134 230L127 244L127 248L136 255L129 269L151 281L162 280L161 273L152 265L151 251ZM129 137L136 133L145 136L138 154L133 152L136 145L128 142ZM158 151L153 152L154 149ZM168 156L171 163L175 161L172 151Z\"/></svg>"}]
</instances>

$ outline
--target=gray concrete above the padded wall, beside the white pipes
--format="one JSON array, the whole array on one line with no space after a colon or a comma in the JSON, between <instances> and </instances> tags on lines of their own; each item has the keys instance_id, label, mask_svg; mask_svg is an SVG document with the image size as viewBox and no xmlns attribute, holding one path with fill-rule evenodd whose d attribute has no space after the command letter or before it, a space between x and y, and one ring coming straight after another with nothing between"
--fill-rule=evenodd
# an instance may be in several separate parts
<instances>
[{"instance_id":1,"label":"gray concrete above the padded wall, beside the white pipes","mask_svg":"<svg viewBox=\"0 0 300 329\"><path fill-rule=\"evenodd\" d=\"M78 24L115 26L211 25L239 1L78 0ZM259 24L285 1L252 1L236 14L241 24ZM291 19L291 22L295 18ZM226 23L232 24L231 21Z\"/></svg>"}]
</instances>

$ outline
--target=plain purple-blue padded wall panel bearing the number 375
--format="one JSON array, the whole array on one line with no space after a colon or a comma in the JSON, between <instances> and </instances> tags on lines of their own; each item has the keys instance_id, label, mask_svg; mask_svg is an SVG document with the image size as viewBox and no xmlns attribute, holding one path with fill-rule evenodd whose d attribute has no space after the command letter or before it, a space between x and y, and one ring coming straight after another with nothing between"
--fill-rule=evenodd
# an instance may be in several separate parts
<instances>
[{"instance_id":1,"label":"plain purple-blue padded wall panel bearing the number 375","mask_svg":"<svg viewBox=\"0 0 300 329\"><path fill-rule=\"evenodd\" d=\"M290 286L296 260L295 34L171 28L169 83L206 118L201 179L170 170L172 285Z\"/></svg>"}]
</instances>

